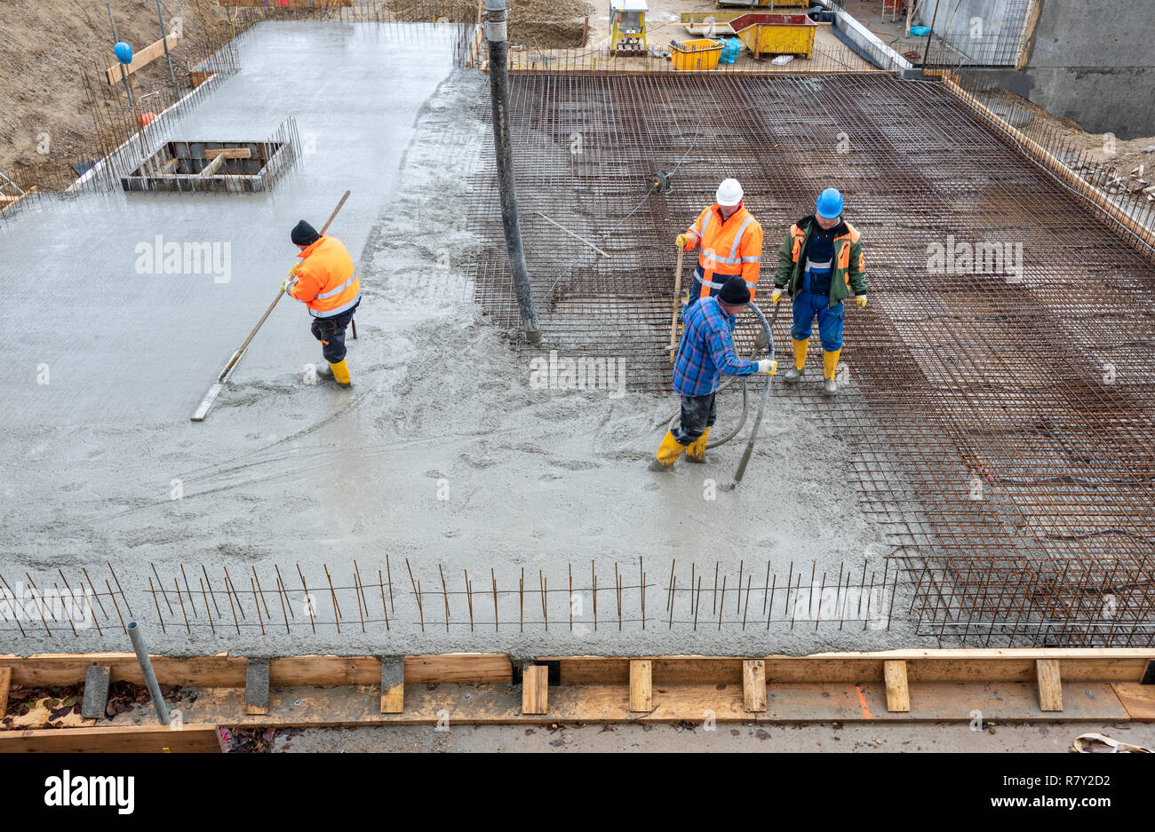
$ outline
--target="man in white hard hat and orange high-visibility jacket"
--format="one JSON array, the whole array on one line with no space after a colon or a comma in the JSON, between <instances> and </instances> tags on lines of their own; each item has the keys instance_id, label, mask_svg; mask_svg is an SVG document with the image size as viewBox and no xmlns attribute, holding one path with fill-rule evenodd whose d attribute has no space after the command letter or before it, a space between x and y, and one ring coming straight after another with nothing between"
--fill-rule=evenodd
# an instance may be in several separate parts
<instances>
[{"instance_id":1,"label":"man in white hard hat and orange high-visibility jacket","mask_svg":"<svg viewBox=\"0 0 1155 832\"><path fill-rule=\"evenodd\" d=\"M699 213L684 234L678 234L678 248L700 249L687 306L717 294L735 275L742 276L750 297L754 297L762 262L762 226L743 208L742 196L737 179L722 180L715 193L717 202Z\"/></svg>"}]
</instances>

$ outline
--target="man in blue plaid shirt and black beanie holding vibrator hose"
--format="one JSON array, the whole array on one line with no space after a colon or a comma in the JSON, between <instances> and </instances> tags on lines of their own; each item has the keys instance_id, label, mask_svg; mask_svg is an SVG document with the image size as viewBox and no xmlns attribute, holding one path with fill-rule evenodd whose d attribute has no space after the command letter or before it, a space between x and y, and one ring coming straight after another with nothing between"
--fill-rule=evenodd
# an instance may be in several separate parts
<instances>
[{"instance_id":1,"label":"man in blue plaid shirt and black beanie holding vibrator hose","mask_svg":"<svg viewBox=\"0 0 1155 832\"><path fill-rule=\"evenodd\" d=\"M714 425L714 398L723 375L774 375L776 361L744 361L733 351L737 315L750 302L751 291L740 275L732 275L717 294L687 306L678 358L673 365L673 391L681 396L681 420L668 430L651 471L669 471L686 452L692 463L706 462L706 442Z\"/></svg>"}]
</instances>

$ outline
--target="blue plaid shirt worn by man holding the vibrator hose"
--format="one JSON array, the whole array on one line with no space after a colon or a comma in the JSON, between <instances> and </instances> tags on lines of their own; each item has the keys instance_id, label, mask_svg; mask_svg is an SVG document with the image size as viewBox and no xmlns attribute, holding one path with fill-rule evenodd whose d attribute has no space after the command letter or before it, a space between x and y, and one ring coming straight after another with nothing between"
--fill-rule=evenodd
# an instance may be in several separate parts
<instances>
[{"instance_id":1,"label":"blue plaid shirt worn by man holding the vibrator hose","mask_svg":"<svg viewBox=\"0 0 1155 832\"><path fill-rule=\"evenodd\" d=\"M673 365L673 391L680 396L705 396L718 389L720 375L753 375L758 361L745 361L733 351L733 325L717 298L702 298L686 307L685 328Z\"/></svg>"}]
</instances>

